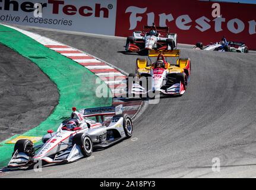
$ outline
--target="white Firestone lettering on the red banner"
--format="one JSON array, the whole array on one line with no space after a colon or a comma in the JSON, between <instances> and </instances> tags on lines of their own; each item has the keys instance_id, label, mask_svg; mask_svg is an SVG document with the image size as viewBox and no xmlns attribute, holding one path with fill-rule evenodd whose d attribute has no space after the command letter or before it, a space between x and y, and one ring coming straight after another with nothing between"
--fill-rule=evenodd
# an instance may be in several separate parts
<instances>
[{"instance_id":1,"label":"white Firestone lettering on the red banner","mask_svg":"<svg viewBox=\"0 0 256 190\"><path fill-rule=\"evenodd\" d=\"M181 30L189 30L192 27L192 19L189 17L188 14L179 15L177 18L174 18L172 13L166 14L165 12L156 15L154 12L147 12L147 7L140 8L140 7L134 7L130 6L125 10L125 13L130 13L129 15L129 30L134 30L137 28L137 25L141 22L142 18L139 16L140 14L146 14L147 15L147 24L150 26L152 23L155 22L155 17L159 17L159 26L166 27L166 22L172 24L171 22L176 24L176 27ZM226 23L226 18L223 17L217 17L213 20L210 20L209 18L205 16L201 16L200 18L197 18L195 20L195 28L199 31L206 31L208 29L211 29L210 22L214 23L214 31L219 32L223 31L222 25ZM250 20L248 23L244 23L242 20L239 20L238 18L233 18L229 21L227 21L227 29L234 33L238 34L245 30L245 24L249 25L249 34L255 34L255 26L256 22L255 20Z\"/></svg>"}]
</instances>

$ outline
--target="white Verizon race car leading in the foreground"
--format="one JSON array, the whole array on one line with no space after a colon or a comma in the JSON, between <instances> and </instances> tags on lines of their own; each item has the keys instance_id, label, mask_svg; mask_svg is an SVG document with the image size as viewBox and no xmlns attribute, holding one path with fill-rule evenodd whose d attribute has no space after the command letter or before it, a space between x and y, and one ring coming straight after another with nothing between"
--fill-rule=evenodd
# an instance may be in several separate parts
<instances>
[{"instance_id":1,"label":"white Verizon race car leading in the foreground","mask_svg":"<svg viewBox=\"0 0 256 190\"><path fill-rule=\"evenodd\" d=\"M73 108L71 118L62 122L56 132L48 131L40 145L30 140L18 140L8 167L45 163L73 162L90 156L93 149L102 149L132 136L132 120L122 115L122 105L83 109ZM93 121L87 117L96 117ZM104 116L108 116L108 119ZM67 128L75 122L75 128Z\"/></svg>"}]
</instances>

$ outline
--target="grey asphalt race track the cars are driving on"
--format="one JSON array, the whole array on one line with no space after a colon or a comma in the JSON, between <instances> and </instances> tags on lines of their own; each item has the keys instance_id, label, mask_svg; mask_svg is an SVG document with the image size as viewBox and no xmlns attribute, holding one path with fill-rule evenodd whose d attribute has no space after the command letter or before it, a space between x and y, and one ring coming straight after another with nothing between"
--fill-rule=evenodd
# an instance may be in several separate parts
<instances>
[{"instance_id":1,"label":"grey asphalt race track the cars are driving on","mask_svg":"<svg viewBox=\"0 0 256 190\"><path fill-rule=\"evenodd\" d=\"M24 28L23 29L27 29ZM137 55L124 55L125 39L27 29L91 53L126 72ZM191 81L181 97L146 103L126 140L89 159L13 171L19 178L174 178L256 176L255 53L207 52L179 46L191 58ZM220 159L220 172L211 170Z\"/></svg>"}]
</instances>

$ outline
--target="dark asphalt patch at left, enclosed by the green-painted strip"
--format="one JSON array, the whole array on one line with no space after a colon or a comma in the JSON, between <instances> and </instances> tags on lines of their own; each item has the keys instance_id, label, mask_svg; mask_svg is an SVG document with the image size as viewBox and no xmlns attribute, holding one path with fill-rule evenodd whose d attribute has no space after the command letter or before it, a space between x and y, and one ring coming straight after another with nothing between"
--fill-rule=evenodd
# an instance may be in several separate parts
<instances>
[{"instance_id":1,"label":"dark asphalt patch at left, enclosed by the green-painted strip","mask_svg":"<svg viewBox=\"0 0 256 190\"><path fill-rule=\"evenodd\" d=\"M0 43L0 141L43 122L58 104L55 84L23 56Z\"/></svg>"}]
</instances>

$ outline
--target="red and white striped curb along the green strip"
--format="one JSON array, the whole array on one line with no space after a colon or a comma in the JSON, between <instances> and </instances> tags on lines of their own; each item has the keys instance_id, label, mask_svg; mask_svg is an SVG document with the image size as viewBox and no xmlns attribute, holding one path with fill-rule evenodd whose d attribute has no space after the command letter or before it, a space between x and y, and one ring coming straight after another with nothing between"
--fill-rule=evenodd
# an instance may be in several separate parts
<instances>
[{"instance_id":1,"label":"red and white striped curb along the green strip","mask_svg":"<svg viewBox=\"0 0 256 190\"><path fill-rule=\"evenodd\" d=\"M127 73L124 71L121 71L115 66L99 58L96 58L89 53L75 49L74 47L64 45L63 43L56 42L55 40L49 39L48 37L40 36L39 34L31 33L30 31L18 29L17 27L8 26L5 24L2 25L20 31L26 36L29 36L37 42L41 43L45 47L48 47L49 49L52 49L55 52L58 52L61 55L72 59L72 61L75 61L80 65L83 65L108 85L114 97L121 97L122 95L126 94L125 87ZM124 113L127 113L131 116L136 115L142 106L142 103L143 102L141 100L129 101L128 99L113 99L113 106L122 104L124 106Z\"/></svg>"}]
</instances>

